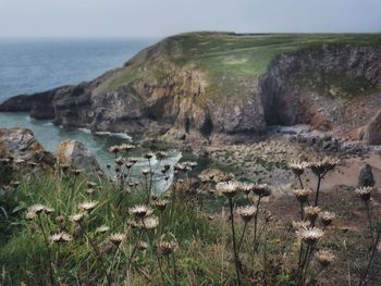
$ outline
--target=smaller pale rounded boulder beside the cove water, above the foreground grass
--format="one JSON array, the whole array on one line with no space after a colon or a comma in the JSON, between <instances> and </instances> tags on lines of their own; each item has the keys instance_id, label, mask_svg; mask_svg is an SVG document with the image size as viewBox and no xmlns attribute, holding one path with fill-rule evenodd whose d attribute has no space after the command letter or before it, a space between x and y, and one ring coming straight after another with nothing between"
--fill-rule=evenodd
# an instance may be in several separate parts
<instances>
[{"instance_id":1,"label":"smaller pale rounded boulder beside the cove water, above the foreground grass","mask_svg":"<svg viewBox=\"0 0 381 286\"><path fill-rule=\"evenodd\" d=\"M78 140L64 140L57 151L57 161L73 169L84 170L86 173L98 175L101 173L97 159Z\"/></svg>"}]
</instances>

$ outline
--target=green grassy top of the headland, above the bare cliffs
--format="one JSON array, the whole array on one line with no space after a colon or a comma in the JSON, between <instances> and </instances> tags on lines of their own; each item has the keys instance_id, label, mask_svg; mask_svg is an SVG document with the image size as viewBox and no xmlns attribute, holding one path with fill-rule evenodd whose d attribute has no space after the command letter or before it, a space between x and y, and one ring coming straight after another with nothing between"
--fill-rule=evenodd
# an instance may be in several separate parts
<instances>
[{"instance_id":1,"label":"green grassy top of the headland, above the bare cliffs","mask_svg":"<svg viewBox=\"0 0 381 286\"><path fill-rule=\"evenodd\" d=\"M111 91L137 79L165 77L162 67L192 66L204 71L209 79L209 95L239 92L242 83L266 73L281 53L293 53L324 43L378 46L380 34L233 34L188 33L165 38L134 57L125 67L108 79ZM242 90L241 90L242 92Z\"/></svg>"}]
</instances>

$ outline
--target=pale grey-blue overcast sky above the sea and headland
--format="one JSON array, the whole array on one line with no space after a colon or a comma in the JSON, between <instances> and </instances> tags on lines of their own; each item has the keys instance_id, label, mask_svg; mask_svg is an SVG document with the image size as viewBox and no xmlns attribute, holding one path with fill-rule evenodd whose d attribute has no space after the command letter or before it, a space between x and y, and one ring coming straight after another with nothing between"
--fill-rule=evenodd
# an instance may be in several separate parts
<instances>
[{"instance_id":1,"label":"pale grey-blue overcast sky above the sea and headland","mask_svg":"<svg viewBox=\"0 0 381 286\"><path fill-rule=\"evenodd\" d=\"M0 37L381 32L381 0L0 0Z\"/></svg>"}]
</instances>

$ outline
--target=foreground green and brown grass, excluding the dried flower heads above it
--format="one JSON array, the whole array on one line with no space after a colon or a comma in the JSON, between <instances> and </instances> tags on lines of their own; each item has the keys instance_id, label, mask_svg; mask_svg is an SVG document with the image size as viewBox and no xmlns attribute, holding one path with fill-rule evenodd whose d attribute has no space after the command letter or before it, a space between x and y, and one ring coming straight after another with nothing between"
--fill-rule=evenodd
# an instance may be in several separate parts
<instances>
[{"instance_id":1,"label":"foreground green and brown grass, excluding the dried flower heads above it","mask_svg":"<svg viewBox=\"0 0 381 286\"><path fill-rule=\"evenodd\" d=\"M321 210L336 214L329 226L320 220L309 222L324 229L323 238L310 251L329 249L335 257L330 268L322 268L314 256L308 258L308 245L303 244L300 252L292 226L292 221L299 220L300 209L292 197L268 199L261 188L256 196L224 197L214 191L219 185L196 182L186 173L176 175L170 190L160 195L169 200L164 210L155 207L160 198L150 198L159 223L145 228L133 226L136 217L131 213L132 208L147 202L145 177L137 187L107 178L89 183L90 177L61 171L16 174L16 178L20 184L2 187L0 197L2 285L237 285L239 279L241 285L356 285L369 261L379 215L377 208L371 210L374 224L369 229L366 208L353 189L320 194ZM72 215L84 201L97 203L81 223L73 222ZM54 211L27 220L28 208L36 203ZM247 225L239 220L241 206L257 208ZM100 226L109 229L100 231ZM59 232L71 239L54 241ZM116 244L110 243L113 234L121 237ZM233 251L233 241L238 250ZM162 243L170 243L169 251ZM310 262L304 265L303 278L300 253ZM377 251L367 285L380 282L380 262Z\"/></svg>"}]
</instances>

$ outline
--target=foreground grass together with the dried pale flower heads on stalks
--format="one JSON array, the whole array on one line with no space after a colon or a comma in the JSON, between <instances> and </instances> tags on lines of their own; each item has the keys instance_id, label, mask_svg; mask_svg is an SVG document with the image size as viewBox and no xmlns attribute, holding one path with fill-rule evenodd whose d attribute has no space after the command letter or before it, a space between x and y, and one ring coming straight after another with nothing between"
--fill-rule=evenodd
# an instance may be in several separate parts
<instances>
[{"instance_id":1,"label":"foreground grass together with the dried pale flower heads on stalks","mask_svg":"<svg viewBox=\"0 0 381 286\"><path fill-rule=\"evenodd\" d=\"M133 147L110 151L123 148ZM153 156L144 154L149 165ZM374 274L372 188L321 194L334 159L290 164L300 187L304 172L319 182L295 190L297 200L233 174L198 181L195 162L172 166L174 182L158 197L152 169L135 184L133 162L116 158L112 182L59 166L1 186L1 285L365 285ZM209 202L214 211L204 212Z\"/></svg>"}]
</instances>

